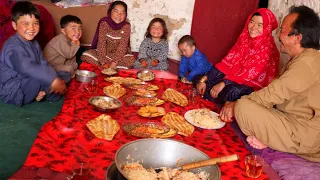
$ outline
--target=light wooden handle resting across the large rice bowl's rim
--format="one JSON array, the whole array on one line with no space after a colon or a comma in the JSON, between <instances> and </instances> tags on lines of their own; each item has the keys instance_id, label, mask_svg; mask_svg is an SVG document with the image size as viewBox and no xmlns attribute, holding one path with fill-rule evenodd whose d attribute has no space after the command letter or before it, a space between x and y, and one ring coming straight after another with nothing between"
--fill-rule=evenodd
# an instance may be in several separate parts
<instances>
[{"instance_id":1,"label":"light wooden handle resting across the large rice bowl's rim","mask_svg":"<svg viewBox=\"0 0 320 180\"><path fill-rule=\"evenodd\" d=\"M222 156L218 158L212 158L204 161L198 161L198 162L193 162L189 164L184 164L181 166L178 166L179 170L188 170L188 169L194 169L194 168L199 168L203 166L211 166L215 165L217 163L224 163L224 162L230 162L230 161L236 161L239 159L239 156L237 154L229 155L229 156Z\"/></svg>"}]
</instances>

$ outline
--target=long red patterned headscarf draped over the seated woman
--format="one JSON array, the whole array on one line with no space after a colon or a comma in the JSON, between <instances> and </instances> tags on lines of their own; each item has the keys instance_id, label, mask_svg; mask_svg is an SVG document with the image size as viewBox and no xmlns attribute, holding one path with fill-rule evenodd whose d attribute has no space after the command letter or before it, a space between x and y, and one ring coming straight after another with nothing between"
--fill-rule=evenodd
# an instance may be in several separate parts
<instances>
[{"instance_id":1,"label":"long red patterned headscarf draped over the seated woman","mask_svg":"<svg viewBox=\"0 0 320 180\"><path fill-rule=\"evenodd\" d=\"M251 38L248 24L254 13L263 19L263 33ZM216 64L225 79L259 90L278 75L280 53L274 43L272 31L278 27L275 15L266 8L257 9L248 18L236 44L224 59Z\"/></svg>"}]
</instances>

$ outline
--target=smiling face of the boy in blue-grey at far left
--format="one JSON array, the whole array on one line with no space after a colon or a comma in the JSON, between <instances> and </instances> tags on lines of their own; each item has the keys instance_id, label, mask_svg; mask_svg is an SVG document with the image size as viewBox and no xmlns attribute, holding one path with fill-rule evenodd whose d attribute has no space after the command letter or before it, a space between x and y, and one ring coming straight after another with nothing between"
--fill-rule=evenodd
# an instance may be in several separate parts
<instances>
[{"instance_id":1,"label":"smiling face of the boy in blue-grey at far left","mask_svg":"<svg viewBox=\"0 0 320 180\"><path fill-rule=\"evenodd\" d=\"M40 23L34 15L20 16L17 22L12 21L12 27L19 36L26 41L31 41L39 33Z\"/></svg>"}]
</instances>

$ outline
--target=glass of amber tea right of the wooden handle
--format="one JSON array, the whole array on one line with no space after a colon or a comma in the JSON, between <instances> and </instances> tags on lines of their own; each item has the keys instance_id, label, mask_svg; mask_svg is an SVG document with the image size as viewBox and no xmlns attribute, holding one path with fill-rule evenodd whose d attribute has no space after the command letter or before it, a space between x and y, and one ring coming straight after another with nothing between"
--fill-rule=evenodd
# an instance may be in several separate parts
<instances>
[{"instance_id":1,"label":"glass of amber tea right of the wooden handle","mask_svg":"<svg viewBox=\"0 0 320 180\"><path fill-rule=\"evenodd\" d=\"M258 178L262 172L263 158L258 155L246 156L245 165L247 175L251 178Z\"/></svg>"}]
</instances>

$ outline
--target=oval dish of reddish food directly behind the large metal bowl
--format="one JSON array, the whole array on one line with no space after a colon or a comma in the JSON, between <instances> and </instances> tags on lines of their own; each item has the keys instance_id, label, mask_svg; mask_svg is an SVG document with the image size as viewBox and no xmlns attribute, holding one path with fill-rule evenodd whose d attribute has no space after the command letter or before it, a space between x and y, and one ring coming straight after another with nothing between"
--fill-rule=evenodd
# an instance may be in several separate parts
<instances>
[{"instance_id":1,"label":"oval dish of reddish food directly behind the large metal bowl","mask_svg":"<svg viewBox=\"0 0 320 180\"><path fill-rule=\"evenodd\" d=\"M128 135L140 138L169 138L177 133L175 129L153 122L128 123L122 128Z\"/></svg>"}]
</instances>

